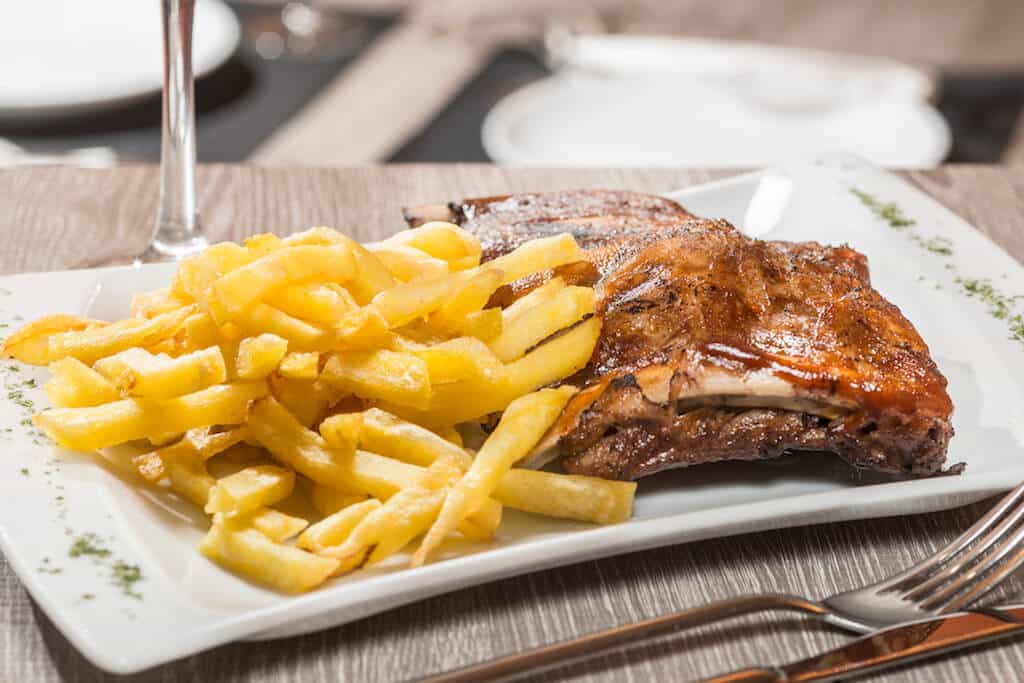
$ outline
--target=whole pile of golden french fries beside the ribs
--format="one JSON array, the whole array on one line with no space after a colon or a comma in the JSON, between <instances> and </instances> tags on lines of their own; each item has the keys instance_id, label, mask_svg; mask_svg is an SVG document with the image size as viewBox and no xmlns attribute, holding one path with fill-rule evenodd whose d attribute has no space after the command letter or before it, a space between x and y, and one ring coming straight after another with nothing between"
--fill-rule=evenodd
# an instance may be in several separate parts
<instances>
[{"instance_id":1,"label":"whole pile of golden french fries beside the ribs","mask_svg":"<svg viewBox=\"0 0 1024 683\"><path fill-rule=\"evenodd\" d=\"M49 368L53 408L34 420L53 441L144 444L140 479L210 515L208 558L301 592L417 539L414 566L451 539L488 541L505 506L631 515L632 483L514 467L575 392L542 387L586 366L600 322L593 290L557 278L487 304L580 259L562 234L481 264L479 242L441 222L367 247L323 227L259 234L183 261L132 317L51 315L2 352ZM316 515L279 509L297 496Z\"/></svg>"}]
</instances>

